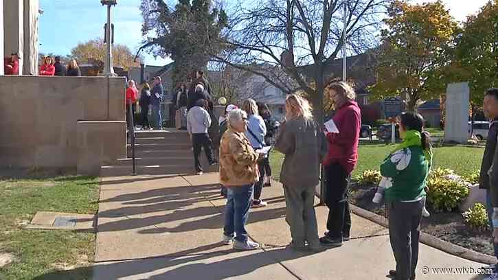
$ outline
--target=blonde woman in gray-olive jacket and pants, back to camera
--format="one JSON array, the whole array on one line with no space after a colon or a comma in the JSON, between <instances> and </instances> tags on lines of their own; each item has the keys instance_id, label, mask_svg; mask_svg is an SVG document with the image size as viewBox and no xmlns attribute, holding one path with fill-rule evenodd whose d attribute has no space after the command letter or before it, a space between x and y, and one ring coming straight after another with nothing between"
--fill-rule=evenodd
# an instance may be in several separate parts
<instances>
[{"instance_id":1,"label":"blonde woman in gray-olive jacket and pants, back to camera","mask_svg":"<svg viewBox=\"0 0 498 280\"><path fill-rule=\"evenodd\" d=\"M288 95L286 121L280 125L275 150L285 155L280 180L284 185L286 222L293 250L322 250L315 215L315 186L319 183L319 137L307 100ZM306 243L308 246L306 246Z\"/></svg>"}]
</instances>

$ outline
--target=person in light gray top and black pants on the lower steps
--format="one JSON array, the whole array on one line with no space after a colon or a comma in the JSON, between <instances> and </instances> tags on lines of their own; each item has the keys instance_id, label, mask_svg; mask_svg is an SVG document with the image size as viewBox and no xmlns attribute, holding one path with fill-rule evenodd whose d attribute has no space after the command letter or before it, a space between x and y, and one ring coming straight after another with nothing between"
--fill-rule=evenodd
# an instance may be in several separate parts
<instances>
[{"instance_id":1,"label":"person in light gray top and black pants on the lower steps","mask_svg":"<svg viewBox=\"0 0 498 280\"><path fill-rule=\"evenodd\" d=\"M187 115L187 130L192 139L192 146L194 148L194 168L197 175L203 174L203 167L199 156L201 155L202 148L206 153L207 160L210 165L215 165L213 154L213 143L210 136L207 135L207 129L211 126L210 114L205 110L205 100L197 100L196 106L188 111Z\"/></svg>"}]
</instances>

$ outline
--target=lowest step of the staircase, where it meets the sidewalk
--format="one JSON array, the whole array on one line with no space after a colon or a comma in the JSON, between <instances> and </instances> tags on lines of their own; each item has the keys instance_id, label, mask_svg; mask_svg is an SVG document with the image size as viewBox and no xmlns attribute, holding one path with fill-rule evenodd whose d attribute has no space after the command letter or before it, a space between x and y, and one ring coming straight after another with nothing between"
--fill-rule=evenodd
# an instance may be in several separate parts
<instances>
[{"instance_id":1,"label":"lowest step of the staircase, where it meets the sidewalk","mask_svg":"<svg viewBox=\"0 0 498 280\"><path fill-rule=\"evenodd\" d=\"M101 177L126 176L133 172L132 165L107 165L100 167ZM195 174L193 164L190 165L136 165L138 175L176 175ZM218 165L204 167L205 173L218 172Z\"/></svg>"}]
</instances>

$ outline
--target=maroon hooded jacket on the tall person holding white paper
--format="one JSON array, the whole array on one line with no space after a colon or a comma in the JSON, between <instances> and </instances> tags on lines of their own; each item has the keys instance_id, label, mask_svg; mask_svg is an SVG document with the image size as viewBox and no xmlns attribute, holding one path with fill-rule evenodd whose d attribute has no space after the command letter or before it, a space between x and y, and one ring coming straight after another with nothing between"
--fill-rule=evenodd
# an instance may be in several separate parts
<instances>
[{"instance_id":1,"label":"maroon hooded jacket on the tall person holding white paper","mask_svg":"<svg viewBox=\"0 0 498 280\"><path fill-rule=\"evenodd\" d=\"M328 154L324 165L340 163L348 174L354 170L358 161L358 142L360 139L361 111L354 101L349 101L334 117L339 133L328 133Z\"/></svg>"}]
</instances>

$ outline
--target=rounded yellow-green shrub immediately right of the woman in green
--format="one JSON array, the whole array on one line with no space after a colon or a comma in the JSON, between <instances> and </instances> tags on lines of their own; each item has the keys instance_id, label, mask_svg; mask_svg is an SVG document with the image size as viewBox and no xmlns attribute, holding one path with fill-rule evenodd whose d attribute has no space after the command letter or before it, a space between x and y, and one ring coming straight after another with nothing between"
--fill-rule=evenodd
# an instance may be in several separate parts
<instances>
[{"instance_id":1,"label":"rounded yellow-green shrub immediately right of the woman in green","mask_svg":"<svg viewBox=\"0 0 498 280\"><path fill-rule=\"evenodd\" d=\"M429 177L427 189L427 201L435 211L453 211L469 193L463 180L434 175Z\"/></svg>"}]
</instances>

